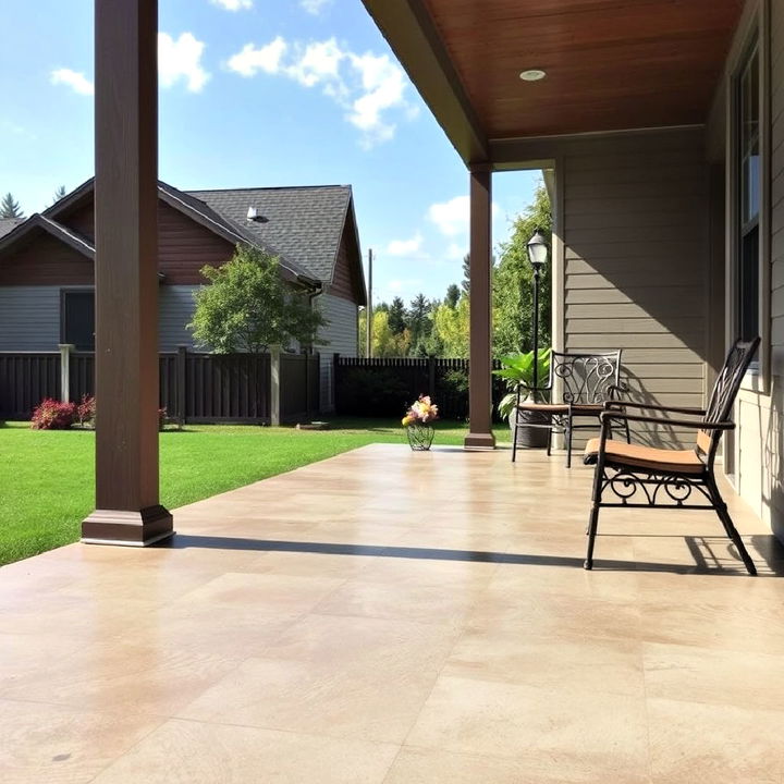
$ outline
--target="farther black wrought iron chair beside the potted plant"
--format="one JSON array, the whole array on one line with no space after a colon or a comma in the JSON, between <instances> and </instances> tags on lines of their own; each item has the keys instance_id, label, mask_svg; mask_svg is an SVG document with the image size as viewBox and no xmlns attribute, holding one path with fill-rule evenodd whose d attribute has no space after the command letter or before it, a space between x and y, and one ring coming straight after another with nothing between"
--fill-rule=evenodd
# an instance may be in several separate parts
<instances>
[{"instance_id":1,"label":"farther black wrought iron chair beside the potted plant","mask_svg":"<svg viewBox=\"0 0 784 784\"><path fill-rule=\"evenodd\" d=\"M556 380L561 382L562 393L559 403L538 403L522 401L523 392L550 392L555 389ZM621 352L602 354L564 354L551 352L550 375L547 385L537 390L526 387L517 388L516 409L543 415L541 422L520 422L515 415L515 431L512 444L512 462L517 453L517 429L520 427L548 428L547 453L552 451L553 433L566 437L566 467L572 466L572 436L575 430L596 430L598 424L575 424L575 417L593 417L597 420L604 412L608 401L617 400L625 392L621 384ZM544 420L544 417L547 419ZM624 426L626 442L629 442L628 422Z\"/></svg>"}]
</instances>

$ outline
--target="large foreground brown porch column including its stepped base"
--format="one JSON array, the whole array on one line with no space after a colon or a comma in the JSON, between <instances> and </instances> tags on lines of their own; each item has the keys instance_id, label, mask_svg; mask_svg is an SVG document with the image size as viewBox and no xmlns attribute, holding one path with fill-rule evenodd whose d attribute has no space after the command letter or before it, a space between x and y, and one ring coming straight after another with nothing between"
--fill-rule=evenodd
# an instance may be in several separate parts
<instances>
[{"instance_id":1,"label":"large foreground brown porch column including its stepped base","mask_svg":"<svg viewBox=\"0 0 784 784\"><path fill-rule=\"evenodd\" d=\"M158 2L96 0L96 511L82 540L172 535L158 503Z\"/></svg>"}]
</instances>

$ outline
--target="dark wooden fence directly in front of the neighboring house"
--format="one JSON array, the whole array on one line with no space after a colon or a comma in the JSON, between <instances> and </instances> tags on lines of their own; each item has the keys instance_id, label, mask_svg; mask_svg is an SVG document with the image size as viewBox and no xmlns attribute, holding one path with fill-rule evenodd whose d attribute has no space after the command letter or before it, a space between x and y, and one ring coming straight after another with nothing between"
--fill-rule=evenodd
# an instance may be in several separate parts
<instances>
[{"instance_id":1,"label":"dark wooden fence directly in front of the neighboring house","mask_svg":"<svg viewBox=\"0 0 784 784\"><path fill-rule=\"evenodd\" d=\"M269 422L270 355L160 354L160 405L184 422ZM68 358L68 397L95 394L95 355ZM62 400L60 353L0 353L0 419L29 419L45 397ZM281 419L319 408L319 356L281 355Z\"/></svg>"}]
</instances>

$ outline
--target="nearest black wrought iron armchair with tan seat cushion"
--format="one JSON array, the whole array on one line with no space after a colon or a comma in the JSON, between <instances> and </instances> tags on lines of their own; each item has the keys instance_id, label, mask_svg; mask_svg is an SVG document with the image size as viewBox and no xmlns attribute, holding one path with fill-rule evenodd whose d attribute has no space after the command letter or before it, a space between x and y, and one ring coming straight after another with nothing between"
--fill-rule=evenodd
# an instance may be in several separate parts
<instances>
[{"instance_id":1,"label":"nearest black wrought iron armchair with tan seat cushion","mask_svg":"<svg viewBox=\"0 0 784 784\"><path fill-rule=\"evenodd\" d=\"M750 575L757 569L737 529L733 525L726 504L719 492L713 475L713 462L722 433L734 429L732 409L740 382L751 362L759 338L738 341L730 351L719 373L707 409L676 408L657 405L638 405L610 402L602 413L601 436L586 445L584 462L596 465L590 518L588 523L587 569L593 566L593 546L599 525L599 510L603 507L664 507L714 510L724 531L735 544ZM627 413L627 408L641 408L659 416ZM689 415L693 419L671 419L664 413ZM694 449L654 449L628 444L611 439L611 424L629 421L664 424L691 428L697 431ZM605 500L611 495L612 500Z\"/></svg>"}]
</instances>

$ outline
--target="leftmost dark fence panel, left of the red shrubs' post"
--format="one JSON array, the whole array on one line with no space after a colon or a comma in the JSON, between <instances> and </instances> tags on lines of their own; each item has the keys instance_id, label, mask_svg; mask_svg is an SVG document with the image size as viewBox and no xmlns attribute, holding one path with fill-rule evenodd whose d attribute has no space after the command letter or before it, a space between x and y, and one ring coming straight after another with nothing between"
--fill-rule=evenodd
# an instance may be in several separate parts
<instances>
[{"instance_id":1,"label":"leftmost dark fence panel, left of the red shrubs' post","mask_svg":"<svg viewBox=\"0 0 784 784\"><path fill-rule=\"evenodd\" d=\"M0 419L29 419L45 397L60 399L60 354L0 353Z\"/></svg>"}]
</instances>

